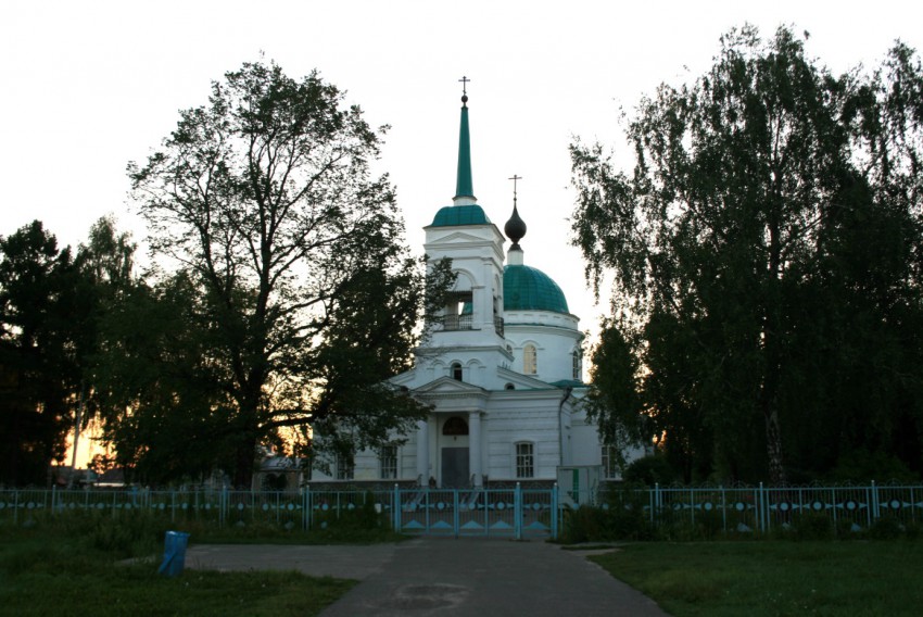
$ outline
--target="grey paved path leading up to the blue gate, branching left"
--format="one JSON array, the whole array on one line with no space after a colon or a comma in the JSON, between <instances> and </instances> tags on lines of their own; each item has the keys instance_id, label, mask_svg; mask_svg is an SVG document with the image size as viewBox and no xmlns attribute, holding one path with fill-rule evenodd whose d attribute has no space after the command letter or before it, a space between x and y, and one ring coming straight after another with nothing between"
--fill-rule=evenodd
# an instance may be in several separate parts
<instances>
[{"instance_id":1,"label":"grey paved path leading up to the blue gate, branching left","mask_svg":"<svg viewBox=\"0 0 923 617\"><path fill-rule=\"evenodd\" d=\"M584 553L542 541L417 538L369 546L193 545L186 567L295 569L361 580L325 617L667 615Z\"/></svg>"}]
</instances>

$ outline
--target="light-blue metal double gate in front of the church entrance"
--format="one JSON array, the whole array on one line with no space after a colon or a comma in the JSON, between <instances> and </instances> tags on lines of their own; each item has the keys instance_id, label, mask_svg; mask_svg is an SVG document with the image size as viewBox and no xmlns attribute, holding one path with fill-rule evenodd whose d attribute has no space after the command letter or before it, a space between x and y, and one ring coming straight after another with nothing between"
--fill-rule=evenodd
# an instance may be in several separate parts
<instances>
[{"instance_id":1,"label":"light-blue metal double gate in front of the church entrance","mask_svg":"<svg viewBox=\"0 0 923 617\"><path fill-rule=\"evenodd\" d=\"M394 489L394 530L420 536L557 538L557 490Z\"/></svg>"}]
</instances>

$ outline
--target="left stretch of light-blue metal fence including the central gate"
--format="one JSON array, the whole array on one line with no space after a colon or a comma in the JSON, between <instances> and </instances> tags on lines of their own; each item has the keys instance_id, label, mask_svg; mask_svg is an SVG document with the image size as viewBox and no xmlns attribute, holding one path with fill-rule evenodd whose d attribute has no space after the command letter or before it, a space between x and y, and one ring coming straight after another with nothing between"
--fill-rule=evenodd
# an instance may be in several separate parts
<instances>
[{"instance_id":1,"label":"left stretch of light-blue metal fence including the central gate","mask_svg":"<svg viewBox=\"0 0 923 617\"><path fill-rule=\"evenodd\" d=\"M371 503L369 503L369 501ZM402 489L265 492L232 490L0 490L0 522L24 522L67 512L130 516L147 512L172 522L217 526L271 524L325 528L371 507L408 534L557 537L557 489Z\"/></svg>"}]
</instances>

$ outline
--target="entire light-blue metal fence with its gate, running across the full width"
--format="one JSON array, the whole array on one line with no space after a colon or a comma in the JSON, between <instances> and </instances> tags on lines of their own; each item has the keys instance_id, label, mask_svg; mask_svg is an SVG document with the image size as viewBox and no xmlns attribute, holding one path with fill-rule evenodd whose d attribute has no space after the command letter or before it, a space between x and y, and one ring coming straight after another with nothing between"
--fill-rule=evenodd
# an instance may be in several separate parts
<instances>
[{"instance_id":1,"label":"entire light-blue metal fence with its gate, running across the full width","mask_svg":"<svg viewBox=\"0 0 923 617\"><path fill-rule=\"evenodd\" d=\"M723 531L768 532L797 526L806 515L827 517L855 531L893 518L923 524L923 486L660 487L574 495L603 508L641 508L652 527L705 524ZM67 512L131 516L147 512L170 521L217 526L267 524L324 528L363 507L374 508L407 534L558 538L565 513L557 487L504 489L317 490L0 490L0 524L21 524ZM369 501L371 503L369 503Z\"/></svg>"}]
</instances>

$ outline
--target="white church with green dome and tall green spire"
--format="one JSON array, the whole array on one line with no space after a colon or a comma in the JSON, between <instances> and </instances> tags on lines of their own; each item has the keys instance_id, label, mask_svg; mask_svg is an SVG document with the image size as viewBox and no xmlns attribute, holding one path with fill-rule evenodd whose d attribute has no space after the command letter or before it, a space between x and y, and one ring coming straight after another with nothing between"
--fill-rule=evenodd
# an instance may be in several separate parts
<instances>
[{"instance_id":1,"label":"white church with green dome and tall green spire","mask_svg":"<svg viewBox=\"0 0 923 617\"><path fill-rule=\"evenodd\" d=\"M312 482L551 486L579 473L591 488L617 477L581 406L579 318L558 285L527 265L515 189L505 235L475 198L467 101L456 194L425 227L423 245L433 262L450 257L457 279L414 367L391 379L431 410L394 445L337 461L329 476L315 469Z\"/></svg>"}]
</instances>

